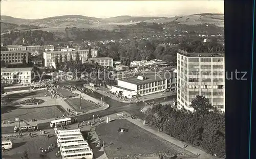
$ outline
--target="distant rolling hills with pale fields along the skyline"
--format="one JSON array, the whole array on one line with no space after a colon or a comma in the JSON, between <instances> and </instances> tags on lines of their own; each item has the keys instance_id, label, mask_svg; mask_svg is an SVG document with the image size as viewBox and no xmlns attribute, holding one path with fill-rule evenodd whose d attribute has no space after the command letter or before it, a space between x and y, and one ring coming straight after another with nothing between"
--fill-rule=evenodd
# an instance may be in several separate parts
<instances>
[{"instance_id":1,"label":"distant rolling hills with pale fields along the skyline","mask_svg":"<svg viewBox=\"0 0 256 159\"><path fill-rule=\"evenodd\" d=\"M77 28L99 28L106 24L136 24L138 21L145 21L148 23L179 22L180 24L188 25L207 23L224 26L224 15L214 13L201 13L187 16L181 15L175 17L143 17L124 15L111 18L95 18L82 15L63 15L48 17L44 19L20 19L10 16L1 16L1 21L15 24L35 25L39 26L40 28L54 28L54 30L56 30L56 28L65 28L66 26Z\"/></svg>"}]
</instances>

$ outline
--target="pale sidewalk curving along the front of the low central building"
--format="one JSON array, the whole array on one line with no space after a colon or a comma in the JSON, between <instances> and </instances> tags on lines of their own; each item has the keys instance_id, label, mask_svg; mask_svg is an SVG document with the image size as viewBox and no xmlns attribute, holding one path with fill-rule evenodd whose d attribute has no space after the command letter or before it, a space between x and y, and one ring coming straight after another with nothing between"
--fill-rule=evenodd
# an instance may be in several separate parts
<instances>
[{"instance_id":1,"label":"pale sidewalk curving along the front of the low central building","mask_svg":"<svg viewBox=\"0 0 256 159\"><path fill-rule=\"evenodd\" d=\"M90 89L90 90L93 90L93 91L95 91L95 89L96 89L96 88L93 88L89 85L86 85L85 87L87 89ZM119 100L117 95L110 94L110 89L108 89L108 88L105 88L104 91L103 91L103 87L99 87L99 88L97 87L96 92L99 93L99 94L102 94L102 95L104 94L103 92L105 92L106 97L109 97L109 98L114 99L114 100L119 101L119 102L136 103L135 98L126 99L126 100L124 100L122 98L121 100ZM154 93L154 94L150 94L150 95L139 96L138 100L139 101L147 101L147 100L152 100L152 99L158 99L158 98L173 96L173 95L176 95L176 94L177 94L177 91L174 91L174 92L169 91L169 92L165 92L165 93Z\"/></svg>"}]
</instances>

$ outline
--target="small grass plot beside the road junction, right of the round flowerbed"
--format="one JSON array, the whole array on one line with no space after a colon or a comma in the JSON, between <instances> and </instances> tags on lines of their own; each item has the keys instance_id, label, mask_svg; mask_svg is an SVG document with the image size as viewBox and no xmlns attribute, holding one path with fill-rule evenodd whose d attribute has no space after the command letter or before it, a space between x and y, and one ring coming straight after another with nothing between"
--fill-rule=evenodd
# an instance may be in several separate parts
<instances>
[{"instance_id":1,"label":"small grass plot beside the road junction, right of the round flowerbed","mask_svg":"<svg viewBox=\"0 0 256 159\"><path fill-rule=\"evenodd\" d=\"M72 107L75 111L78 111L78 112L90 111L98 108L95 104L85 99L82 99L82 110L80 110L80 97L66 99L65 101L70 105L70 107Z\"/></svg>"}]
</instances>

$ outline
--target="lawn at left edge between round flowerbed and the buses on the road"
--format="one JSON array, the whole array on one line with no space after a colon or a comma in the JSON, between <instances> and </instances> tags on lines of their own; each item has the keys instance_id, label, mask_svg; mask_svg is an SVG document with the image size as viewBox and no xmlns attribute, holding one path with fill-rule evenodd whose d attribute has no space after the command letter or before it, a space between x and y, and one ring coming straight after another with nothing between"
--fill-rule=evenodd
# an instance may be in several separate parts
<instances>
[{"instance_id":1,"label":"lawn at left edge between round flowerbed and the buses on the road","mask_svg":"<svg viewBox=\"0 0 256 159\"><path fill-rule=\"evenodd\" d=\"M14 121L15 118L19 119L50 119L54 118L54 106L19 109L18 107L5 106L1 108L2 121ZM56 116L62 116L62 113L56 108Z\"/></svg>"}]
</instances>

